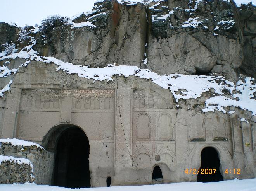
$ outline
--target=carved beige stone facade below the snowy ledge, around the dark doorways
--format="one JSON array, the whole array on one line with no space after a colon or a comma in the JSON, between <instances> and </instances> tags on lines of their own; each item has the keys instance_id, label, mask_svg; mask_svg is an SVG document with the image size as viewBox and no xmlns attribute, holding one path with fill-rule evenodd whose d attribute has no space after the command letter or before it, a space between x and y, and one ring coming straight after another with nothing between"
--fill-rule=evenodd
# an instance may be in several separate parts
<instances>
[{"instance_id":1,"label":"carved beige stone facade below the snowy ledge, around the dark doorways","mask_svg":"<svg viewBox=\"0 0 256 191\"><path fill-rule=\"evenodd\" d=\"M43 145L52 152L46 168L54 169L62 132L76 127L89 141L92 187L106 186L108 177L111 186L152 184L155 166L161 168L163 183L195 182L197 174L184 170L200 168L206 147L218 152L224 180L256 177L255 123L239 120L246 111L203 113L201 99L177 107L171 92L150 80L131 76L93 82L55 70L55 65L31 61L0 100L1 137ZM241 174L225 173L234 168ZM43 184L53 184L54 171L50 176L52 181ZM43 179L35 177L35 182Z\"/></svg>"}]
</instances>

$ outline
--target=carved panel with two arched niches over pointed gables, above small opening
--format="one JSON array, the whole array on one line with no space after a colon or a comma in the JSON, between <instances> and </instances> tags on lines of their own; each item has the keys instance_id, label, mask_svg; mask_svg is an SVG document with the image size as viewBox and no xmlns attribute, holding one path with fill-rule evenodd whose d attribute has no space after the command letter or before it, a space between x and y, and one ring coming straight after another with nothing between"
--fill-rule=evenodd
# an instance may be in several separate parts
<instances>
[{"instance_id":1,"label":"carved panel with two arched niches over pointed gables, above small opening","mask_svg":"<svg viewBox=\"0 0 256 191\"><path fill-rule=\"evenodd\" d=\"M133 109L132 123L133 165L138 168L159 162L174 165L175 112L156 108L136 110Z\"/></svg>"}]
</instances>

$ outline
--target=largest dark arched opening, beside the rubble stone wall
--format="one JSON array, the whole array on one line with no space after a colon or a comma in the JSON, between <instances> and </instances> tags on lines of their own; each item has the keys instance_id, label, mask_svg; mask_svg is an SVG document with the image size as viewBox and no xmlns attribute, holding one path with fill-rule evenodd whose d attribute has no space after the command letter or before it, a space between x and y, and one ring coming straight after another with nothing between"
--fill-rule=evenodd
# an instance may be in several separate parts
<instances>
[{"instance_id":1,"label":"largest dark arched opening, beside the rubble stone wall","mask_svg":"<svg viewBox=\"0 0 256 191\"><path fill-rule=\"evenodd\" d=\"M89 140L78 127L70 127L58 138L55 150L54 186L67 188L88 188L89 171Z\"/></svg>"}]
</instances>

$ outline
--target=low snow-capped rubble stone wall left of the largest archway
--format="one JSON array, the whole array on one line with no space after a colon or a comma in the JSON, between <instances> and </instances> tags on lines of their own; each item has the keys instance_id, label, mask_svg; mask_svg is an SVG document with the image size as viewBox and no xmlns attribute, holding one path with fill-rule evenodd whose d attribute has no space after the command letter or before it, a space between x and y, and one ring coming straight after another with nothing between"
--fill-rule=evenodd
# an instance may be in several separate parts
<instances>
[{"instance_id":1,"label":"low snow-capped rubble stone wall left of the largest archway","mask_svg":"<svg viewBox=\"0 0 256 191\"><path fill-rule=\"evenodd\" d=\"M32 169L29 164L15 164L10 161L1 162L0 184L25 183L28 181L35 181L36 184L50 184L54 162L53 153L36 146L23 147L22 145L2 142L0 144L0 155L29 159L33 165Z\"/></svg>"}]
</instances>

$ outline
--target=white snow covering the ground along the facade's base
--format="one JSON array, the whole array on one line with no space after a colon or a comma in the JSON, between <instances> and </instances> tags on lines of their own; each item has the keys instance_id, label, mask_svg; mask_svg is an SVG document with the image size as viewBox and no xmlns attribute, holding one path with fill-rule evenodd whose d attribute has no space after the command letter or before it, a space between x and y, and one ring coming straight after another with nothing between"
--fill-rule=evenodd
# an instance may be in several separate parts
<instances>
[{"instance_id":1,"label":"white snow covering the ground along the facade's base","mask_svg":"<svg viewBox=\"0 0 256 191\"><path fill-rule=\"evenodd\" d=\"M158 184L146 186L112 186L99 188L69 189L57 186L25 184L2 184L0 190L4 191L255 191L256 179L228 180L221 182L201 183L185 182L173 184Z\"/></svg>"}]
</instances>

